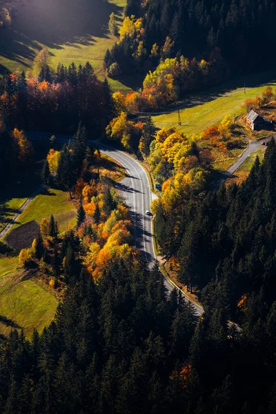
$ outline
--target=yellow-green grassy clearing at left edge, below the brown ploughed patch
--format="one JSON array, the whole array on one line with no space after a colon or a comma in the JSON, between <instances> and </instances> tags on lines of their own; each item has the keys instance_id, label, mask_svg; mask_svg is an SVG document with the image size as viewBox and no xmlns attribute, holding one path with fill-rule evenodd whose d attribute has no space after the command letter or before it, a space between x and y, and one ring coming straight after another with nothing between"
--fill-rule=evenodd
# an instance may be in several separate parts
<instances>
[{"instance_id":1,"label":"yellow-green grassy clearing at left edge, below the brown ploughed patch","mask_svg":"<svg viewBox=\"0 0 276 414\"><path fill-rule=\"evenodd\" d=\"M52 321L57 299L28 279L18 267L17 257L0 256L0 339L12 328L23 328L30 337Z\"/></svg>"}]
</instances>

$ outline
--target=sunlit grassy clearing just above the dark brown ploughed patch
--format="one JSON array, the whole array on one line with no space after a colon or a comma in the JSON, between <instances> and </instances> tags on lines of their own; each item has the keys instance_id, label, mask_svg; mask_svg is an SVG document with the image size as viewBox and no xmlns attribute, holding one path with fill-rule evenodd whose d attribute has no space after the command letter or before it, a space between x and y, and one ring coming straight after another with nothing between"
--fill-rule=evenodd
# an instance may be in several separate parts
<instances>
[{"instance_id":1,"label":"sunlit grassy clearing just above the dark brown ploughed patch","mask_svg":"<svg viewBox=\"0 0 276 414\"><path fill-rule=\"evenodd\" d=\"M72 228L76 224L76 208L68 199L69 195L67 192L49 188L43 194L39 194L33 199L26 210L19 216L18 222L12 226L12 229L32 220L40 223L43 217L50 219L51 215L55 215L55 219L57 219L59 224L59 230L63 233L67 228Z\"/></svg>"}]
</instances>

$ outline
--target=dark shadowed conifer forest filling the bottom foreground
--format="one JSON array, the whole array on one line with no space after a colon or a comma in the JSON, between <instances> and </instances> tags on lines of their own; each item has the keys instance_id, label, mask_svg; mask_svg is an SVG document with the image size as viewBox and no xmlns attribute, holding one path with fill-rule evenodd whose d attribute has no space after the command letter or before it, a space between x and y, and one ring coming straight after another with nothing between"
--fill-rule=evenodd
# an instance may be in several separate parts
<instances>
[{"instance_id":1,"label":"dark shadowed conifer forest filling the bottom foreground","mask_svg":"<svg viewBox=\"0 0 276 414\"><path fill-rule=\"evenodd\" d=\"M262 292L238 333L224 296L198 321L139 259L97 284L73 274L49 328L1 347L1 413L275 413L276 308Z\"/></svg>"}]
</instances>

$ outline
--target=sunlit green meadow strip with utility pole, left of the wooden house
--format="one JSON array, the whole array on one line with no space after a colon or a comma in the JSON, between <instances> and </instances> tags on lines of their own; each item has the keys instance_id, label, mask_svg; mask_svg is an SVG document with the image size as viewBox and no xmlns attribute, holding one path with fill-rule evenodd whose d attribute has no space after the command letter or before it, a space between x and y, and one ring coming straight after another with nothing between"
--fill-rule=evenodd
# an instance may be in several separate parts
<instances>
[{"instance_id":1,"label":"sunlit green meadow strip with utility pole, left of the wooden house","mask_svg":"<svg viewBox=\"0 0 276 414\"><path fill-rule=\"evenodd\" d=\"M276 83L269 83L275 86ZM266 85L267 86L267 85ZM180 110L182 126L179 127L188 136L197 135L208 128L208 126L217 125L223 119L224 115L231 114L234 117L242 115L245 110L241 108L244 99L253 98L263 92L266 86L258 86L246 90L237 88L225 95L217 94L199 95L188 104L193 105L189 108ZM157 115L152 117L158 128L169 128L178 125L177 111L165 115Z\"/></svg>"}]
</instances>

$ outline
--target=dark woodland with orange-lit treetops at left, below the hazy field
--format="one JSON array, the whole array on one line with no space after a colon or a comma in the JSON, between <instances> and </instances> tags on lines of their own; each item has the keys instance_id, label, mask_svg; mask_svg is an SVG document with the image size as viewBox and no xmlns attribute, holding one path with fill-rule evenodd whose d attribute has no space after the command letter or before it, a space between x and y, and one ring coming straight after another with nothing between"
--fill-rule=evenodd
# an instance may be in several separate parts
<instances>
[{"instance_id":1,"label":"dark woodland with orange-lit treetops at left, below the hazy field","mask_svg":"<svg viewBox=\"0 0 276 414\"><path fill-rule=\"evenodd\" d=\"M99 81L90 63L78 68L75 63L68 68L59 65L54 71L48 59L48 52L42 50L28 79L22 72L6 75L1 81L0 177L12 177L17 168L30 168L31 144L22 130L72 135L81 120L90 139L98 139L112 119L108 81Z\"/></svg>"}]
</instances>

